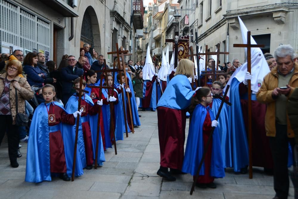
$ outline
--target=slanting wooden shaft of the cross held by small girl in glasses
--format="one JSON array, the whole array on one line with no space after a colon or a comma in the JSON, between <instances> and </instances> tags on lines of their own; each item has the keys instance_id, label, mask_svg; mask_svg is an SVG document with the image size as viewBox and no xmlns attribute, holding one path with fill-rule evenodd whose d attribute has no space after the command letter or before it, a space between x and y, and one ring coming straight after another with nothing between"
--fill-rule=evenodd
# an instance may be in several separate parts
<instances>
[{"instance_id":1,"label":"slanting wooden shaft of the cross held by small girl in glasses","mask_svg":"<svg viewBox=\"0 0 298 199\"><path fill-rule=\"evenodd\" d=\"M228 94L228 90L229 90L229 88L230 88L230 85L227 85L227 86L226 86L226 92L224 93L224 97L223 97L223 99L226 99L226 95ZM217 112L216 117L215 117L215 120L216 120L216 121L218 120L219 115L221 114L221 109L222 109L222 107L224 106L224 103L225 103L225 101L222 100L222 101L221 101L221 105L219 106L219 108L218 108L218 112ZM232 104L231 104L231 105L232 105ZM193 186L192 186L191 189L190 189L190 195L192 195L192 194L193 194L193 191L195 190L195 184L196 184L197 181L198 181L199 174L200 174L200 170L201 170L201 167L202 167L202 165L203 165L203 162L204 162L206 153L207 153L207 151L208 151L209 144L210 144L210 141L211 141L211 139L212 139L212 135L213 135L214 129L215 129L215 127L212 127L212 130L211 130L210 135L209 135L209 137L208 137L207 143L206 143L206 145L205 145L205 147L204 147L203 155L202 155L200 164L199 164L199 166L198 166L197 173L196 173L196 175L195 175L195 180L193 181Z\"/></svg>"}]
</instances>

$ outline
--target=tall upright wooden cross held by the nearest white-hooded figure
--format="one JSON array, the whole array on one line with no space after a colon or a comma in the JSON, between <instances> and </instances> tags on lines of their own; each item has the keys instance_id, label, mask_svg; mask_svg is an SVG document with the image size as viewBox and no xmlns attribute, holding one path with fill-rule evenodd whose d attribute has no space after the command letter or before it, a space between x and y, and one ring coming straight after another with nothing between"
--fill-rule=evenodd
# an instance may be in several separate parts
<instances>
[{"instance_id":1,"label":"tall upright wooden cross held by the nearest white-hooded figure","mask_svg":"<svg viewBox=\"0 0 298 199\"><path fill-rule=\"evenodd\" d=\"M262 48L264 44L251 44L250 31L247 31L247 44L234 44L233 47L247 48L247 72L251 73L251 48ZM252 86L247 80L248 87L248 145L249 145L249 178L252 179Z\"/></svg>"}]
</instances>

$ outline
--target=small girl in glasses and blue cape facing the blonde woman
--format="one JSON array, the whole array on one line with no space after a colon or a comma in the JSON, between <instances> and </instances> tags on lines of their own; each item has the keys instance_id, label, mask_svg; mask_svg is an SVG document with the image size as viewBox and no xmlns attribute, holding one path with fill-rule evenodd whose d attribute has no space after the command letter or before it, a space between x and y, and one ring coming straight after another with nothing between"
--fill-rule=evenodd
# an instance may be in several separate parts
<instances>
[{"instance_id":1,"label":"small girl in glasses and blue cape facing the blonde woman","mask_svg":"<svg viewBox=\"0 0 298 199\"><path fill-rule=\"evenodd\" d=\"M210 88L202 87L196 91L190 105L193 117L188 132L182 172L190 173L194 176L194 180L212 128L218 125L208 106L212 98ZM213 132L199 175L196 185L201 188L216 188L216 184L213 183L214 178L225 176L217 128Z\"/></svg>"}]
</instances>

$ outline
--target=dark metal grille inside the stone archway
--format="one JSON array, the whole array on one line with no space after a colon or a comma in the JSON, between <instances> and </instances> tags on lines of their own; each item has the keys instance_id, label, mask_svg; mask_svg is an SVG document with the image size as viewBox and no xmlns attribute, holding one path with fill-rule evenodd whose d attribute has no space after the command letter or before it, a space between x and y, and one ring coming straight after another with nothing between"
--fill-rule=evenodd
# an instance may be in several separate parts
<instances>
[{"instance_id":1,"label":"dark metal grille inside the stone archway","mask_svg":"<svg viewBox=\"0 0 298 199\"><path fill-rule=\"evenodd\" d=\"M89 44L90 46L93 46L91 17L88 12L85 12L83 16L82 29L81 29L81 41Z\"/></svg>"}]
</instances>

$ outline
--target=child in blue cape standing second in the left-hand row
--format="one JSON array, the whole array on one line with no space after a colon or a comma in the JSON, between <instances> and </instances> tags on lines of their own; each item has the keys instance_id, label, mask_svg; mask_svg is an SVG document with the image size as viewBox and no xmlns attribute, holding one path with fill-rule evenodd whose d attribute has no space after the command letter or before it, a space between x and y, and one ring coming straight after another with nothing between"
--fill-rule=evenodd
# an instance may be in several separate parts
<instances>
[{"instance_id":1,"label":"child in blue cape standing second in the left-hand row","mask_svg":"<svg viewBox=\"0 0 298 199\"><path fill-rule=\"evenodd\" d=\"M80 87L80 78L75 79L74 81L75 87ZM82 89L86 88L86 81L83 80ZM76 90L77 91L77 90ZM78 91L77 91L78 92ZM66 111L74 111L77 110L78 107L78 99L77 92L73 94L67 104L66 104ZM98 148L96 147L96 137L97 137L97 113L99 106L103 105L103 101L97 101L94 105L92 99L85 93L82 93L81 97L81 105L80 110L82 110L82 116L80 117L79 121L79 132L78 132L78 149L80 152L80 158L82 162L83 168L92 169L92 165L95 164L95 154L98 150L97 156L97 164L99 166L103 165L105 161L105 154L103 150L103 140L100 135ZM74 126L76 128L76 125Z\"/></svg>"}]
</instances>

